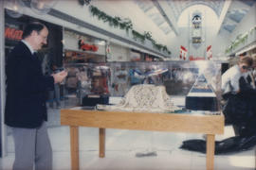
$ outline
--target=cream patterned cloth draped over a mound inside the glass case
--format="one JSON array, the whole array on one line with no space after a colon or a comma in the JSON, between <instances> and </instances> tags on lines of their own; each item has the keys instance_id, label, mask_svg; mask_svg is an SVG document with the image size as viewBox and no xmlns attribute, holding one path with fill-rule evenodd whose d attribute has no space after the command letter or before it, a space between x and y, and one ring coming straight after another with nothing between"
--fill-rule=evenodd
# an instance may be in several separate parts
<instances>
[{"instance_id":1,"label":"cream patterned cloth draped over a mound inside the glass case","mask_svg":"<svg viewBox=\"0 0 256 170\"><path fill-rule=\"evenodd\" d=\"M141 84L133 86L118 105L97 105L98 110L124 110L136 112L174 112L174 106L164 86Z\"/></svg>"}]
</instances>

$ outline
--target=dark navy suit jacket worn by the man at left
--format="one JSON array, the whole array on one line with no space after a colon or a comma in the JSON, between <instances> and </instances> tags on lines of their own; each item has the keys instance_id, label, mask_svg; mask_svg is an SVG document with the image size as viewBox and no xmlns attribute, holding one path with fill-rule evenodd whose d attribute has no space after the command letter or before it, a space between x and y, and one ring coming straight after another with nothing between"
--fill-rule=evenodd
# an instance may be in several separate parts
<instances>
[{"instance_id":1,"label":"dark navy suit jacket worn by the man at left","mask_svg":"<svg viewBox=\"0 0 256 170\"><path fill-rule=\"evenodd\" d=\"M53 76L44 76L42 66L24 42L8 56L5 123L9 127L40 127L46 115L46 92L53 90Z\"/></svg>"}]
</instances>

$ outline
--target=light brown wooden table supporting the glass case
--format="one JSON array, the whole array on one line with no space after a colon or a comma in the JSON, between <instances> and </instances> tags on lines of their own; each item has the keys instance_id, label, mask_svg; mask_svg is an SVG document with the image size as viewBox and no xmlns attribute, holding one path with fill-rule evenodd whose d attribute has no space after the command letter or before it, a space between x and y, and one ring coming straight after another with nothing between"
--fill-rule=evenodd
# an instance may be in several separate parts
<instances>
[{"instance_id":1,"label":"light brown wooden table supporting the glass case","mask_svg":"<svg viewBox=\"0 0 256 170\"><path fill-rule=\"evenodd\" d=\"M214 168L215 134L224 133L223 115L61 110L61 125L70 126L71 168L79 169L79 127L100 128L100 157L105 156L105 128L207 134L207 170Z\"/></svg>"}]
</instances>

